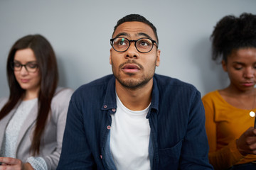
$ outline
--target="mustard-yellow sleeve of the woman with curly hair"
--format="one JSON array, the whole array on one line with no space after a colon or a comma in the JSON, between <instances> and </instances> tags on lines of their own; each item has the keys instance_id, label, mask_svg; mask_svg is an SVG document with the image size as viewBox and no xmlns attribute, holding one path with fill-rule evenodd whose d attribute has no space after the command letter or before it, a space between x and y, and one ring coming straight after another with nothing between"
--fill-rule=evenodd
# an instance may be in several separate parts
<instances>
[{"instance_id":1,"label":"mustard-yellow sleeve of the woman with curly hair","mask_svg":"<svg viewBox=\"0 0 256 170\"><path fill-rule=\"evenodd\" d=\"M216 170L228 169L230 166L239 162L243 156L238 151L235 140L230 142L229 145L217 150L217 123L215 123L214 120L215 109L213 108L213 103L208 98L203 98L203 105L206 112L206 133L209 144L209 162Z\"/></svg>"}]
</instances>

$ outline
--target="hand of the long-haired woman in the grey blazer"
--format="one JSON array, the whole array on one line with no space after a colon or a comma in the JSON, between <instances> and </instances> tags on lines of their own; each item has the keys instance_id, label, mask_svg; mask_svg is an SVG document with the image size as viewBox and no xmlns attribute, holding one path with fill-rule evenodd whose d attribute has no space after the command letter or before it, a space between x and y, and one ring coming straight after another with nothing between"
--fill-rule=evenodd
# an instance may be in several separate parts
<instances>
[{"instance_id":1,"label":"hand of the long-haired woman in the grey blazer","mask_svg":"<svg viewBox=\"0 0 256 170\"><path fill-rule=\"evenodd\" d=\"M0 170L33 170L29 163L21 162L21 159L11 157L0 157Z\"/></svg>"}]
</instances>

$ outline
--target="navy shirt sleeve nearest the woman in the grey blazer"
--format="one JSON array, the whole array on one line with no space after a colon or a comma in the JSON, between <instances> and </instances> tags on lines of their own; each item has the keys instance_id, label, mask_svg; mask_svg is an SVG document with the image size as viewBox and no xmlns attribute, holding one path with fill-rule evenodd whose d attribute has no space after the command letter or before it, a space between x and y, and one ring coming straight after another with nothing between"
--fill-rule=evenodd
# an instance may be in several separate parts
<instances>
[{"instance_id":1,"label":"navy shirt sleeve nearest the woman in the grey blazer","mask_svg":"<svg viewBox=\"0 0 256 170\"><path fill-rule=\"evenodd\" d=\"M87 144L83 116L78 103L79 101L75 101L75 97L71 98L57 170L69 170L77 167L87 170L95 169L95 161Z\"/></svg>"}]
</instances>

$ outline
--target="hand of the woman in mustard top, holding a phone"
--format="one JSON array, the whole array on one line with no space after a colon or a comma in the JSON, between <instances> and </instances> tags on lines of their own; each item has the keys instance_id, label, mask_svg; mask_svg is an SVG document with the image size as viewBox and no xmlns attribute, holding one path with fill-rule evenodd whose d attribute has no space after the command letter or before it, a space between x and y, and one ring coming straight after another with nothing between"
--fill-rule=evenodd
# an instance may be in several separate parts
<instances>
[{"instance_id":1,"label":"hand of the woman in mustard top, holding a phone","mask_svg":"<svg viewBox=\"0 0 256 170\"><path fill-rule=\"evenodd\" d=\"M256 129L250 127L236 141L239 152L242 155L256 154Z\"/></svg>"}]
</instances>

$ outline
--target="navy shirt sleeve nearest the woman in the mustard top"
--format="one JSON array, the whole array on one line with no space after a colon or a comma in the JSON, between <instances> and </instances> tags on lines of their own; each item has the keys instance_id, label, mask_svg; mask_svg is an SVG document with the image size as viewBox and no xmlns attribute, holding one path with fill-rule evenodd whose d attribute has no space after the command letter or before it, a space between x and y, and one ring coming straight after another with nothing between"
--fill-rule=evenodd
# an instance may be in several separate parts
<instances>
[{"instance_id":1,"label":"navy shirt sleeve nearest the woman in the mustard top","mask_svg":"<svg viewBox=\"0 0 256 170\"><path fill-rule=\"evenodd\" d=\"M213 169L208 162L208 141L201 94L196 91L190 99L186 136L183 139L180 169Z\"/></svg>"}]
</instances>

